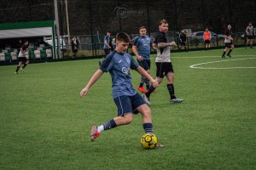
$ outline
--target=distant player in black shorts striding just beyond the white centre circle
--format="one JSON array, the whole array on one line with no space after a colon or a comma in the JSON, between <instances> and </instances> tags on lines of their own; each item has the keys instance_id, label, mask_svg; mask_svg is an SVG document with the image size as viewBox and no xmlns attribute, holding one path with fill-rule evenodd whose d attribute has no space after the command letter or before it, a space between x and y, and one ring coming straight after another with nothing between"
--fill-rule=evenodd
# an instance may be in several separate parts
<instances>
[{"instance_id":1,"label":"distant player in black shorts striding just beyond the white centre circle","mask_svg":"<svg viewBox=\"0 0 256 170\"><path fill-rule=\"evenodd\" d=\"M231 57L230 53L232 52L234 47L234 44L232 43L233 38L232 38L232 31L231 31L231 25L228 26L228 29L225 31L224 33L224 43L225 43L225 48L224 48L224 52L222 54L222 58L225 58L225 54L227 52L227 50L230 48L229 53L227 54L227 56Z\"/></svg>"}]
</instances>

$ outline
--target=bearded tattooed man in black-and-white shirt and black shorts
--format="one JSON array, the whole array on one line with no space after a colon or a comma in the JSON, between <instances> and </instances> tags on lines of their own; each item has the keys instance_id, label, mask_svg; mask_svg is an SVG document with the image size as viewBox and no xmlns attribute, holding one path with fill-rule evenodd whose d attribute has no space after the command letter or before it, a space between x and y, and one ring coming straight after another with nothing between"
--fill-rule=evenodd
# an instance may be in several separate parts
<instances>
[{"instance_id":1,"label":"bearded tattooed man in black-and-white shirt and black shorts","mask_svg":"<svg viewBox=\"0 0 256 170\"><path fill-rule=\"evenodd\" d=\"M155 59L156 78L155 80L160 84L164 77L167 79L167 89L171 97L171 103L181 103L183 99L177 99L174 93L174 71L172 68L172 61L170 59L171 47L177 46L176 42L167 42L166 33L168 32L168 23L166 20L161 20L159 24L159 31L155 37L155 44L157 49L157 56ZM154 92L154 86L150 86L148 92L143 94L143 99L150 105L149 96Z\"/></svg>"}]
</instances>

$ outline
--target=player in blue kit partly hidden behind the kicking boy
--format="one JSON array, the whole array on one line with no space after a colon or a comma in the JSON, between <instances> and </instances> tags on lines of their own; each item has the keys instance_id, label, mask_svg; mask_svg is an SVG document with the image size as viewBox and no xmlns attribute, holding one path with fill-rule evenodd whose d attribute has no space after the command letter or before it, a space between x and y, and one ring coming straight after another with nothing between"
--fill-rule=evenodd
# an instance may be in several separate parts
<instances>
[{"instance_id":1,"label":"player in blue kit partly hidden behind the kicking boy","mask_svg":"<svg viewBox=\"0 0 256 170\"><path fill-rule=\"evenodd\" d=\"M143 67L145 71L150 71L150 47L154 48L154 43L152 42L151 37L147 36L147 30L145 26L139 28L140 36L135 37L132 45L132 52L137 57L137 62L140 66ZM155 48L154 48L155 49ZM143 88L144 82L146 83L147 90ZM141 83L137 88L143 94L147 93L149 88L149 81L146 77L142 76Z\"/></svg>"}]
</instances>

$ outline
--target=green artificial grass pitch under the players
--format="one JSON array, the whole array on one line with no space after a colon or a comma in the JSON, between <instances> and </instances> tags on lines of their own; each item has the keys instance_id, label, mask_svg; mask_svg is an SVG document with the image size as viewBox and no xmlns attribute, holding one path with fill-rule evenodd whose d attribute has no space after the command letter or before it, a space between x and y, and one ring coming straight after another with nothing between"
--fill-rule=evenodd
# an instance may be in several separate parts
<instances>
[{"instance_id":1,"label":"green artificial grass pitch under the players","mask_svg":"<svg viewBox=\"0 0 256 170\"><path fill-rule=\"evenodd\" d=\"M222 51L172 54L185 101L170 104L166 79L151 95L154 134L165 144L154 150L140 145L141 115L90 142L90 127L117 115L108 73L79 99L99 59L32 64L19 75L1 66L0 169L255 169L256 50L226 59ZM140 75L131 74L137 88Z\"/></svg>"}]
</instances>

